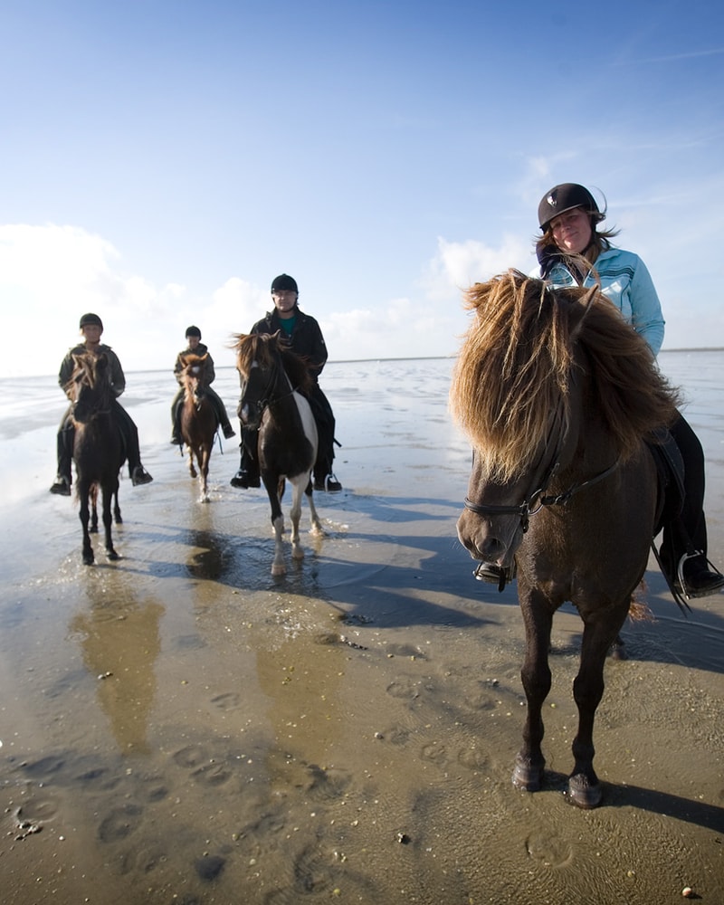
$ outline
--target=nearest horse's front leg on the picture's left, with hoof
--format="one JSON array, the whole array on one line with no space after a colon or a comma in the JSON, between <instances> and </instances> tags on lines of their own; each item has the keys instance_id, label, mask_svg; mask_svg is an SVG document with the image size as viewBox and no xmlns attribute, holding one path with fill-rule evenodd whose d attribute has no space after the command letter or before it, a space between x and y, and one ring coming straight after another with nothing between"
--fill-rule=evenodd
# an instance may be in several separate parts
<instances>
[{"instance_id":1,"label":"nearest horse's front leg on the picture's left, with hoof","mask_svg":"<svg viewBox=\"0 0 724 905\"><path fill-rule=\"evenodd\" d=\"M520 748L513 770L513 784L527 792L538 792L543 781L543 702L550 691L548 648L553 624L554 607L535 589L524 590L519 585L520 609L526 629L526 655L520 671L526 692L528 711L523 727L523 747Z\"/></svg>"}]
</instances>

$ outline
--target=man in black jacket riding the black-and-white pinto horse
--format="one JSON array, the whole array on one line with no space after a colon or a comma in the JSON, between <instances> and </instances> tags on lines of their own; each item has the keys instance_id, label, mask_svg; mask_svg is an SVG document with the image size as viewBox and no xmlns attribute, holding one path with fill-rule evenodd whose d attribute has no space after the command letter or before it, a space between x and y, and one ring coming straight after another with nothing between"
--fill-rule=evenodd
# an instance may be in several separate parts
<instances>
[{"instance_id":1,"label":"man in black jacket riding the black-and-white pinto horse","mask_svg":"<svg viewBox=\"0 0 724 905\"><path fill-rule=\"evenodd\" d=\"M309 402L319 432L319 451L314 464L314 489L316 491L341 491L342 485L332 472L334 461L335 418L327 396L319 386L319 375L327 361L327 346L318 322L299 309L297 282L287 273L281 273L271 283L274 310L258 320L252 334L281 332L293 352L304 358L314 377ZM257 458L258 432L242 424L242 461L234 474L233 487L259 487L259 460Z\"/></svg>"}]
</instances>

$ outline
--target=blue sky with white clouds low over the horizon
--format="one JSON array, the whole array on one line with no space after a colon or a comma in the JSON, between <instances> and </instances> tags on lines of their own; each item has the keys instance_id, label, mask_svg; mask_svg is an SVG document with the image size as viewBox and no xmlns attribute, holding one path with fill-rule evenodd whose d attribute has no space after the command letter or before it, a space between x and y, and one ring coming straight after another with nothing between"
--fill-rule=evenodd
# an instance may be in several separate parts
<instances>
[{"instance_id":1,"label":"blue sky with white clouds low over the horizon","mask_svg":"<svg viewBox=\"0 0 724 905\"><path fill-rule=\"evenodd\" d=\"M710 0L3 0L0 376L81 314L127 372L216 367L290 273L330 361L453 355L540 198L607 205L663 348L724 347L724 15Z\"/></svg>"}]
</instances>

